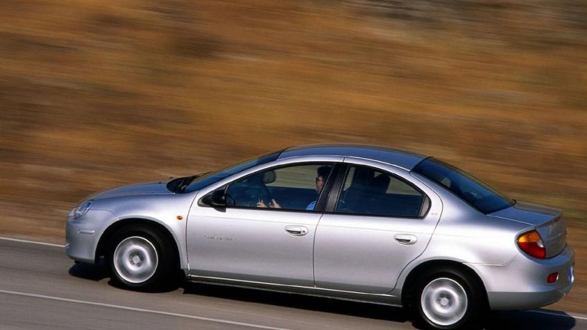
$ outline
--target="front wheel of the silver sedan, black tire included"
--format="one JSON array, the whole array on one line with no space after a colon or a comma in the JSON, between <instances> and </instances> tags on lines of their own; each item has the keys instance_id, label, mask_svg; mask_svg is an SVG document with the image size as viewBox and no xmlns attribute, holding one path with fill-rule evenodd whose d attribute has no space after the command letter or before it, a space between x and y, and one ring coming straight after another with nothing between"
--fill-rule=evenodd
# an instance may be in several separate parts
<instances>
[{"instance_id":1,"label":"front wheel of the silver sedan, black tire included","mask_svg":"<svg viewBox=\"0 0 587 330\"><path fill-rule=\"evenodd\" d=\"M179 268L173 246L167 236L152 227L122 227L108 242L106 264L112 280L134 290L167 288Z\"/></svg>"}]
</instances>

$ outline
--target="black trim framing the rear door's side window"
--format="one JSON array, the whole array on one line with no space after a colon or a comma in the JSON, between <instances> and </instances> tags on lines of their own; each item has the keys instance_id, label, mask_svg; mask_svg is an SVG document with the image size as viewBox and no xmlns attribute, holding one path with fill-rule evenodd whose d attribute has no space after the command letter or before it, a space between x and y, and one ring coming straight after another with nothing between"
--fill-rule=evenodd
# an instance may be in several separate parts
<instances>
[{"instance_id":1,"label":"black trim framing the rear door's side window","mask_svg":"<svg viewBox=\"0 0 587 330\"><path fill-rule=\"evenodd\" d=\"M432 199L429 198L427 193L425 193L424 191L422 191L422 189L418 188L418 186L416 186L412 182L409 182L409 180L406 180L403 177L395 175L394 173L390 173L389 171L386 171L383 168L378 168L378 167L370 166L370 165L344 163L343 166L344 167L341 168L338 173L339 175L337 175L337 177L336 177L336 183L335 183L336 185L334 186L334 189L336 189L336 191L334 191L334 190L330 191L330 196L328 198L328 205L324 211L324 214L334 214L337 216L371 216L371 217L375 217L375 218L393 218L393 219L424 219L424 218L426 218L426 216L428 216L430 209L432 209ZM348 171L350 171L351 166L364 166L364 167L368 167L368 168L373 168L373 170L375 170L375 171L379 171L381 173L391 175L395 179L400 180L401 182L405 182L406 184L408 184L409 186L414 188L414 190L421 193L422 196L424 196L424 199L427 198L430 201L429 205L428 205L428 209L426 210L425 214L423 214L423 216L382 216L382 215L378 215L378 214L358 214L358 213L337 212L336 207L339 204L339 199L341 198L341 193L343 191L344 182L346 181L346 177L348 175ZM424 204L424 199L422 200L422 205L420 205L420 212L418 212L418 214L421 213L421 209Z\"/></svg>"}]
</instances>

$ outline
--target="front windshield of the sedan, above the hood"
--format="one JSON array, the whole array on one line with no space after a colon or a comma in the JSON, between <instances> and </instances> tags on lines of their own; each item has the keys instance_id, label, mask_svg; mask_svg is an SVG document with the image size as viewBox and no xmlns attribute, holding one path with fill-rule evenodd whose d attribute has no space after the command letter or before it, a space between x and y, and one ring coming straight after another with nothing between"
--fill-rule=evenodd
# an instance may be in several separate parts
<instances>
[{"instance_id":1,"label":"front windshield of the sedan, above the hood","mask_svg":"<svg viewBox=\"0 0 587 330\"><path fill-rule=\"evenodd\" d=\"M192 191L200 190L205 186L213 184L214 182L219 182L230 175L245 171L253 166L273 162L278 158L280 153L281 151L247 159L239 164L231 165L219 171L209 172L203 175L178 177L177 179L167 182L167 189L174 193L191 193Z\"/></svg>"}]
</instances>

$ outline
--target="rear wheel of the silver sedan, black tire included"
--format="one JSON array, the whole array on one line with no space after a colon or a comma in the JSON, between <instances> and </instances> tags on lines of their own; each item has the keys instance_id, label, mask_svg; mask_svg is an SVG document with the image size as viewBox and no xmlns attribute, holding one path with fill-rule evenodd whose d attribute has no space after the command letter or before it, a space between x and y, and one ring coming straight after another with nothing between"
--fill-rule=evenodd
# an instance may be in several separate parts
<instances>
[{"instance_id":1,"label":"rear wheel of the silver sedan, black tire included","mask_svg":"<svg viewBox=\"0 0 587 330\"><path fill-rule=\"evenodd\" d=\"M449 267L421 275L410 305L420 329L480 329L487 310L484 288L466 272Z\"/></svg>"}]
</instances>

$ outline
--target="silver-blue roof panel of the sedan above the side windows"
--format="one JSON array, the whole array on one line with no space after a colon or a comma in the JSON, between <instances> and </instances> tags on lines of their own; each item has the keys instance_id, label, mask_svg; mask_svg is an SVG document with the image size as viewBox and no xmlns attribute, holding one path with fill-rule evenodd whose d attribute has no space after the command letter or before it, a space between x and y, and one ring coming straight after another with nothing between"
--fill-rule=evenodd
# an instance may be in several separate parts
<instances>
[{"instance_id":1,"label":"silver-blue roof panel of the sedan above the side windows","mask_svg":"<svg viewBox=\"0 0 587 330\"><path fill-rule=\"evenodd\" d=\"M427 156L409 151L362 144L309 144L282 151L278 159L300 156L347 156L373 159L410 171Z\"/></svg>"}]
</instances>

